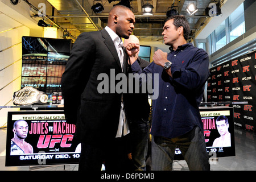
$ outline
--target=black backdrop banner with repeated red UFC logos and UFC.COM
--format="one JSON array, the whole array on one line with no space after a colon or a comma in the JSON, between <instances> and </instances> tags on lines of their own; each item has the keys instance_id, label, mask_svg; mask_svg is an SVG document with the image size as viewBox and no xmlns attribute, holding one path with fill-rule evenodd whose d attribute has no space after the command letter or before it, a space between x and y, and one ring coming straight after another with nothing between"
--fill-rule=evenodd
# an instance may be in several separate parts
<instances>
[{"instance_id":1,"label":"black backdrop banner with repeated red UFC logos and UFC.COM","mask_svg":"<svg viewBox=\"0 0 256 182\"><path fill-rule=\"evenodd\" d=\"M207 102L248 102L226 104L234 107L234 125L255 132L256 51L210 68Z\"/></svg>"}]
</instances>

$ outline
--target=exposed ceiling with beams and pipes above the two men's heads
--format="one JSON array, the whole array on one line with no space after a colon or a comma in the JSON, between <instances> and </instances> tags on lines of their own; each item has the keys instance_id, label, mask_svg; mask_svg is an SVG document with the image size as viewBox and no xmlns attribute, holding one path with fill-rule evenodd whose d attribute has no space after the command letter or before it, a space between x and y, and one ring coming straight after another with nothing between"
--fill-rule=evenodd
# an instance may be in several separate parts
<instances>
[{"instance_id":1,"label":"exposed ceiling with beams and pipes above the two men's heads","mask_svg":"<svg viewBox=\"0 0 256 182\"><path fill-rule=\"evenodd\" d=\"M111 1L111 0L110 0ZM195 35L195 31L199 28L205 19L205 8L209 5L210 0L108 0L94 1L94 0L48 0L48 2L57 10L55 15L51 16L58 22L58 18L65 18L65 22L59 23L67 25L68 23L77 28L77 31L97 31L106 26L109 11L113 5L127 1L130 3L136 19L134 34L137 36L162 36L162 28L164 19L166 19L166 12L171 6L179 12L180 15L185 15L191 26L191 36ZM104 11L95 14L91 9L95 3L102 3ZM198 11L189 16L185 8L190 2L194 2L198 7ZM142 6L145 3L150 3L154 6L153 15L142 15Z\"/></svg>"}]
</instances>

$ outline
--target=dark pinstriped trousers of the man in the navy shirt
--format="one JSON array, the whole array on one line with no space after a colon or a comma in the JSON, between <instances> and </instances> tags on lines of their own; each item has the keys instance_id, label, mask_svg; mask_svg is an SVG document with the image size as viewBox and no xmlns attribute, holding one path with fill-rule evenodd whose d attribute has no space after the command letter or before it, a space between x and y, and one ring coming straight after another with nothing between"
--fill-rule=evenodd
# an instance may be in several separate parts
<instances>
[{"instance_id":1,"label":"dark pinstriped trousers of the man in the navy shirt","mask_svg":"<svg viewBox=\"0 0 256 182\"><path fill-rule=\"evenodd\" d=\"M171 171L176 147L180 149L189 170L210 170L205 138L199 127L172 139L152 136L152 169Z\"/></svg>"}]
</instances>

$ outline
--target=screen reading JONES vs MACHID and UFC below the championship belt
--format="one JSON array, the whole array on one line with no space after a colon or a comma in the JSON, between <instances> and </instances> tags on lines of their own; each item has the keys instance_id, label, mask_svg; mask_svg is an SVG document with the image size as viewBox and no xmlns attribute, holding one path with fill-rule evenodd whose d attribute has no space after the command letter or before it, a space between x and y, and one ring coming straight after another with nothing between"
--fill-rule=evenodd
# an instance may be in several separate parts
<instances>
[{"instance_id":1,"label":"screen reading JONES vs MACHID and UFC below the championship belt","mask_svg":"<svg viewBox=\"0 0 256 182\"><path fill-rule=\"evenodd\" d=\"M79 163L75 131L61 110L9 112L6 166Z\"/></svg>"}]
</instances>

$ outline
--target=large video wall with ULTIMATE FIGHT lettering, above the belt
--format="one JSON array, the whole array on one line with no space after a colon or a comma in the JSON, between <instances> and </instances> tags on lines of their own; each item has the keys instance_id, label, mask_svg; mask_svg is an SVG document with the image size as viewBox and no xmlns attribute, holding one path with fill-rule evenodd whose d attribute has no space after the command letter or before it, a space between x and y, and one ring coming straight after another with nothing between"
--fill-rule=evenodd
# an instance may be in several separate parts
<instances>
[{"instance_id":1,"label":"large video wall with ULTIMATE FIGHT lettering, above the belt","mask_svg":"<svg viewBox=\"0 0 256 182\"><path fill-rule=\"evenodd\" d=\"M71 46L67 39L23 36L21 88L32 86L47 94L61 92L61 76Z\"/></svg>"}]
</instances>

